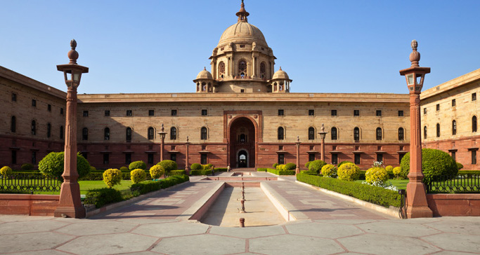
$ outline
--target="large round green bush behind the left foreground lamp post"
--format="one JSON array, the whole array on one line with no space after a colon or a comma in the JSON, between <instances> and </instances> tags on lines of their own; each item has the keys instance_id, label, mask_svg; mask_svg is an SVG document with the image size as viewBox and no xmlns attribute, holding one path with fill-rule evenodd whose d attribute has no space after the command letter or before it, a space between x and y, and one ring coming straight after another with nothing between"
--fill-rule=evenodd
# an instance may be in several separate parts
<instances>
[{"instance_id":1,"label":"large round green bush behind the left foreground lamp post","mask_svg":"<svg viewBox=\"0 0 480 255\"><path fill-rule=\"evenodd\" d=\"M48 177L57 177L60 181L63 181L63 161L64 153L62 152L51 152L48 153L45 158L42 158L39 162L39 171ZM82 178L90 173L90 164L84 156L80 153L77 153L77 172L79 178Z\"/></svg>"}]
</instances>

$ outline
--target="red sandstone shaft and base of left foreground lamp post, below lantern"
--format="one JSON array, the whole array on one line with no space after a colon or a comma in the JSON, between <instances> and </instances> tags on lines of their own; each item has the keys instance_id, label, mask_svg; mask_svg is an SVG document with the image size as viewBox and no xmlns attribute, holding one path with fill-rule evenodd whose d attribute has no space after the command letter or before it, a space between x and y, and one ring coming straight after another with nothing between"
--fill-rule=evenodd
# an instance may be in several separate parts
<instances>
[{"instance_id":1,"label":"red sandstone shaft and base of left foreground lamp post, below lantern","mask_svg":"<svg viewBox=\"0 0 480 255\"><path fill-rule=\"evenodd\" d=\"M85 218L85 207L80 200L80 186L77 182L77 88L68 87L67 115L65 123L65 161L60 189L60 201L54 216Z\"/></svg>"}]
</instances>

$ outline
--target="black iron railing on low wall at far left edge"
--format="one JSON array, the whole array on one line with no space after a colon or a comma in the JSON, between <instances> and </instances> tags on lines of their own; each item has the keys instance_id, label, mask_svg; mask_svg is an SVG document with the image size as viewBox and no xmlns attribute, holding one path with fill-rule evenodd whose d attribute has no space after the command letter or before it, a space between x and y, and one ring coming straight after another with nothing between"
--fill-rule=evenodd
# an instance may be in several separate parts
<instances>
[{"instance_id":1,"label":"black iron railing on low wall at far left edge","mask_svg":"<svg viewBox=\"0 0 480 255\"><path fill-rule=\"evenodd\" d=\"M0 191L60 191L61 185L58 179L39 174L0 175Z\"/></svg>"}]
</instances>

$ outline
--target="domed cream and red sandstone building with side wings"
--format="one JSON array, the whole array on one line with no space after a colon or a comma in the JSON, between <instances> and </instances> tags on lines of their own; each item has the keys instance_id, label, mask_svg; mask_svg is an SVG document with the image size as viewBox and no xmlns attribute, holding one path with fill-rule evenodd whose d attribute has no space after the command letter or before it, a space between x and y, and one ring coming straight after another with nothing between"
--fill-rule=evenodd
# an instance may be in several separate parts
<instances>
[{"instance_id":1,"label":"domed cream and red sandstone building with side wings","mask_svg":"<svg viewBox=\"0 0 480 255\"><path fill-rule=\"evenodd\" d=\"M193 80L195 92L78 95L78 150L91 165L143 160L151 166L164 158L184 168L188 154L189 164L271 167L295 163L297 143L301 169L320 158L362 169L374 160L399 165L409 149L407 88L405 94L295 93L294 77L275 67L273 49L248 22L243 3L236 15L209 57L211 71ZM447 151L465 170L477 169L479 86L477 69L421 95L424 146ZM65 98L0 67L0 165L36 165L63 151ZM323 156L319 132L326 132Z\"/></svg>"}]
</instances>

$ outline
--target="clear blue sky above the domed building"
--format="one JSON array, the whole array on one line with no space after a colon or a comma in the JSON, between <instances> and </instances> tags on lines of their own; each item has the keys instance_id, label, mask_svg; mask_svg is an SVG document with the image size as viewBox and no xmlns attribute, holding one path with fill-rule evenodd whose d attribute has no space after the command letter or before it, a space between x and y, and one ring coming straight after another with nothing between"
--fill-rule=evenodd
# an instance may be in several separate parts
<instances>
[{"instance_id":1,"label":"clear blue sky above the domed building","mask_svg":"<svg viewBox=\"0 0 480 255\"><path fill-rule=\"evenodd\" d=\"M1 0L0 65L66 90L70 39L90 67L79 93L194 92L240 0ZM416 39L424 90L480 68L480 1L245 0L291 92L406 93Z\"/></svg>"}]
</instances>

